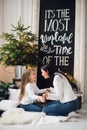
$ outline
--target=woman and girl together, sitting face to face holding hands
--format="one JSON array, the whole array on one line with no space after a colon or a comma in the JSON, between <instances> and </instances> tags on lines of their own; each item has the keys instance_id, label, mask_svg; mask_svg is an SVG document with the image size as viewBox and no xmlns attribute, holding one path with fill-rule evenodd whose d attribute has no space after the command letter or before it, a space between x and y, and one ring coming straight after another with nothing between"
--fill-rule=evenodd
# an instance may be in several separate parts
<instances>
[{"instance_id":1,"label":"woman and girl together, sitting face to face holding hands","mask_svg":"<svg viewBox=\"0 0 87 130\"><path fill-rule=\"evenodd\" d=\"M53 116L67 116L76 112L79 109L79 101L68 79L63 74L54 72L50 65L42 66L41 73L45 79L53 79L52 86L39 89L35 83L35 70L27 70L21 80L20 107L25 111L42 111Z\"/></svg>"}]
</instances>

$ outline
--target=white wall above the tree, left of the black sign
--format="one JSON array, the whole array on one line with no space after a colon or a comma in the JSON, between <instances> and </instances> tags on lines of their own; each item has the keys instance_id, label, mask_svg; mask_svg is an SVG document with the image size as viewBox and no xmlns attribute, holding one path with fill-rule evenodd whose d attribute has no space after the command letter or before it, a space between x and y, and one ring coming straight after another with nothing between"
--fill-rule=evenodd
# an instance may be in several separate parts
<instances>
[{"instance_id":1,"label":"white wall above the tree, left of the black sign","mask_svg":"<svg viewBox=\"0 0 87 130\"><path fill-rule=\"evenodd\" d=\"M20 17L25 26L38 33L39 0L0 0L0 33L9 31Z\"/></svg>"}]
</instances>

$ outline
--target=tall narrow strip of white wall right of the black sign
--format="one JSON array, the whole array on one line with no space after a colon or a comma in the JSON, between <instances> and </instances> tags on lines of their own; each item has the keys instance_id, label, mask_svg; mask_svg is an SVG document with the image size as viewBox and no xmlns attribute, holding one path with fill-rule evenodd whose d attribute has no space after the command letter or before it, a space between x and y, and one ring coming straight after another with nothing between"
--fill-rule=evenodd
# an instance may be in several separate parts
<instances>
[{"instance_id":1,"label":"tall narrow strip of white wall right of the black sign","mask_svg":"<svg viewBox=\"0 0 87 130\"><path fill-rule=\"evenodd\" d=\"M83 95L85 86L85 1L86 0L76 0L74 61L74 76L78 81L78 86Z\"/></svg>"}]
</instances>

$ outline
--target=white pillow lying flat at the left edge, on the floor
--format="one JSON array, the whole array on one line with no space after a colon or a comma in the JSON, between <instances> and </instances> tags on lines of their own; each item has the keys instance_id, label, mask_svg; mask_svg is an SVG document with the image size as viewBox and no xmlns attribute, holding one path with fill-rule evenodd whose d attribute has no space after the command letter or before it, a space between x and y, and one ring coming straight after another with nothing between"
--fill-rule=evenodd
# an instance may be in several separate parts
<instances>
[{"instance_id":1,"label":"white pillow lying flat at the left edge, on the floor","mask_svg":"<svg viewBox=\"0 0 87 130\"><path fill-rule=\"evenodd\" d=\"M11 108L16 108L18 105L19 102L15 100L2 100L0 102L0 110L6 111Z\"/></svg>"}]
</instances>

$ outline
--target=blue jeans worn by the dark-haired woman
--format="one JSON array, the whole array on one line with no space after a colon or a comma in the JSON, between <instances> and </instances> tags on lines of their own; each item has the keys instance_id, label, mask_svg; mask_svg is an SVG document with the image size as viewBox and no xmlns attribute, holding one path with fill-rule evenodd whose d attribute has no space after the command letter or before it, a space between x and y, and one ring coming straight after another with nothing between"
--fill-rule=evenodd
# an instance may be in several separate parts
<instances>
[{"instance_id":1,"label":"blue jeans worn by the dark-haired woman","mask_svg":"<svg viewBox=\"0 0 87 130\"><path fill-rule=\"evenodd\" d=\"M78 99L76 99L67 103L61 103L60 101L53 101L48 105L44 106L42 111L46 113L46 115L67 116L68 113L76 111L78 109L79 109L79 101Z\"/></svg>"}]
</instances>

